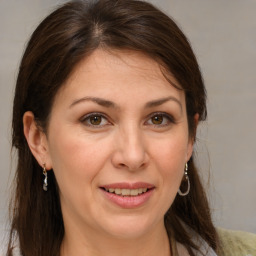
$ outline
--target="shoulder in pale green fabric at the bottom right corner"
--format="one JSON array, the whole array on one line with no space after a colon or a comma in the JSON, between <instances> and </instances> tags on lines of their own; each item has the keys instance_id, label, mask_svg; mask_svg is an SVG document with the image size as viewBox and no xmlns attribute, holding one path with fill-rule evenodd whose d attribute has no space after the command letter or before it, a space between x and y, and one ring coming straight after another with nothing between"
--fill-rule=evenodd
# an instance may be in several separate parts
<instances>
[{"instance_id":1,"label":"shoulder in pale green fabric at the bottom right corner","mask_svg":"<svg viewBox=\"0 0 256 256\"><path fill-rule=\"evenodd\" d=\"M218 228L219 256L256 256L256 234Z\"/></svg>"}]
</instances>

